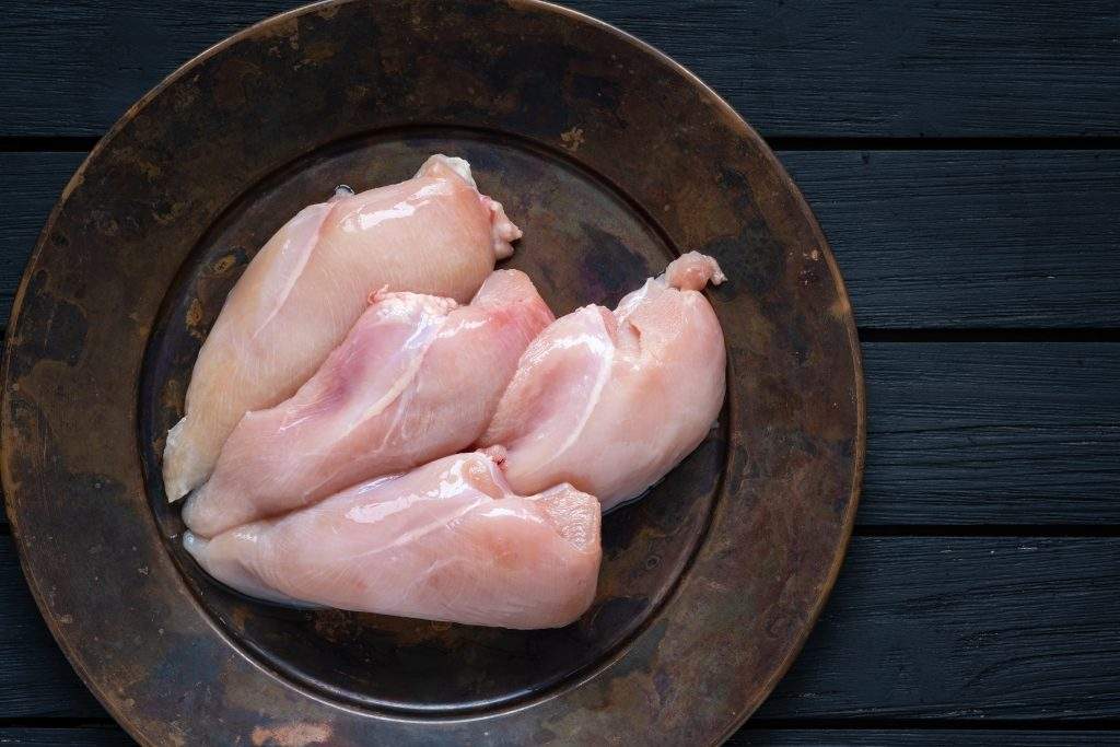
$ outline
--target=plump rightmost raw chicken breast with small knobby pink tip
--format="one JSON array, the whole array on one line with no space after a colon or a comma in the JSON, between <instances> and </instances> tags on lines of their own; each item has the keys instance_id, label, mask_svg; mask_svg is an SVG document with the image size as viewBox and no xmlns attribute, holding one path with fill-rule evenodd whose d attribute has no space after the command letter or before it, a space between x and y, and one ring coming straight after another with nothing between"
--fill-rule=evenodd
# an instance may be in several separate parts
<instances>
[{"instance_id":1,"label":"plump rightmost raw chicken breast with small knobby pink tip","mask_svg":"<svg viewBox=\"0 0 1120 747\"><path fill-rule=\"evenodd\" d=\"M521 357L479 440L514 489L571 483L603 510L641 495L692 451L724 404L724 333L699 291L725 280L690 252L614 312L558 319Z\"/></svg>"}]
</instances>

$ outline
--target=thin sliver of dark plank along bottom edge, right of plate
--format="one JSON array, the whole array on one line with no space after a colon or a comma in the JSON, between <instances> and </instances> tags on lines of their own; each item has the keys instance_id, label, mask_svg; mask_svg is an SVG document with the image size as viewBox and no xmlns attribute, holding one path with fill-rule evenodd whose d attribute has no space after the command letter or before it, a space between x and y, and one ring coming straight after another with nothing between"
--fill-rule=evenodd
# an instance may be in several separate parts
<instances>
[{"instance_id":1,"label":"thin sliver of dark plank along bottom edge, right of plate","mask_svg":"<svg viewBox=\"0 0 1120 747\"><path fill-rule=\"evenodd\" d=\"M1054 729L756 729L749 725L727 747L1105 747L1120 731Z\"/></svg>"}]
</instances>

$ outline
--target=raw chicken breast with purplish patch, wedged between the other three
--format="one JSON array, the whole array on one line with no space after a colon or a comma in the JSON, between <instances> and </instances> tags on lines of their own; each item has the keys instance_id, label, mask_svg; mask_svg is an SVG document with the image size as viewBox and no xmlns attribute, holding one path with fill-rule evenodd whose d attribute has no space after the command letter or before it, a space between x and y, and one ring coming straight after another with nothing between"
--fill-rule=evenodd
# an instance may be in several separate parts
<instances>
[{"instance_id":1,"label":"raw chicken breast with purplish patch, wedged between the other three","mask_svg":"<svg viewBox=\"0 0 1120 747\"><path fill-rule=\"evenodd\" d=\"M183 517L212 536L470 446L517 358L552 312L532 281L498 270L470 306L377 293L299 392L245 413Z\"/></svg>"}]
</instances>

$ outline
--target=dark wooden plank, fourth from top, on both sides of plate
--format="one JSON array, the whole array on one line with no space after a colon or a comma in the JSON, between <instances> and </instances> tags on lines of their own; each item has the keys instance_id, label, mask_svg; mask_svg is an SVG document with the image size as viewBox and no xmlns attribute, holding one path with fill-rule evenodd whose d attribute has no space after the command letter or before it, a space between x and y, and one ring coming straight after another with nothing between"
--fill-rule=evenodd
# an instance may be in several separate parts
<instances>
[{"instance_id":1,"label":"dark wooden plank, fourth from top, on both sides of plate","mask_svg":"<svg viewBox=\"0 0 1120 747\"><path fill-rule=\"evenodd\" d=\"M7 538L0 622L0 712L104 716L49 641ZM758 717L1116 719L1118 631L1120 538L856 538Z\"/></svg>"}]
</instances>

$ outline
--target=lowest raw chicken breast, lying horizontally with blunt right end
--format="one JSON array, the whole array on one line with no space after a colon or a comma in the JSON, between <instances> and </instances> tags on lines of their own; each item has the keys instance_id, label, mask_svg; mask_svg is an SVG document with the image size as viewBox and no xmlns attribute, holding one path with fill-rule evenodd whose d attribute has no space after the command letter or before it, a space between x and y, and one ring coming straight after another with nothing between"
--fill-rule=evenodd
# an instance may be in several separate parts
<instances>
[{"instance_id":1,"label":"lowest raw chicken breast, lying horizontally with blunt right end","mask_svg":"<svg viewBox=\"0 0 1120 747\"><path fill-rule=\"evenodd\" d=\"M601 557L595 497L570 485L514 495L478 452L184 545L262 599L512 628L582 615Z\"/></svg>"}]
</instances>

